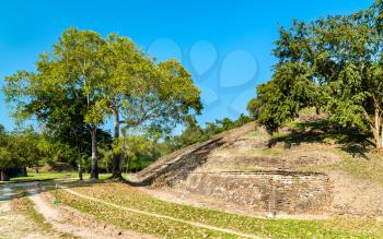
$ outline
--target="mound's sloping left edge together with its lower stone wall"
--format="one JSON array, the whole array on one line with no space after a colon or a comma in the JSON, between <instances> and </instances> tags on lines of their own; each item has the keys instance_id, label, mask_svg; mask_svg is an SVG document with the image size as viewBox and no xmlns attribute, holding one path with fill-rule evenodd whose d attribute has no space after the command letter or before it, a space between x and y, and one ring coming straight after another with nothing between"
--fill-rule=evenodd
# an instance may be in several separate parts
<instances>
[{"instance_id":1,"label":"mound's sloping left edge together with its lower stone wall","mask_svg":"<svg viewBox=\"0 0 383 239\"><path fill-rule=\"evenodd\" d=\"M254 128L255 124L249 123L160 158L135 175L134 183L156 188L179 187L258 212L313 213L328 206L332 182L325 174L288 169L198 170L208 160L211 151L233 145Z\"/></svg>"}]
</instances>

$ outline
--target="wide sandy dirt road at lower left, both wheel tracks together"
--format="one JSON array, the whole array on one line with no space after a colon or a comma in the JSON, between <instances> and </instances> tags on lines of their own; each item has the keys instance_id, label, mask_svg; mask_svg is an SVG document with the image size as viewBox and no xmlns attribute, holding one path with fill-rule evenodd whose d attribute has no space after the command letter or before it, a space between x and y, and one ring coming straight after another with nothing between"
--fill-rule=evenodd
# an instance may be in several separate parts
<instances>
[{"instance_id":1,"label":"wide sandy dirt road at lower left, both wheel tracks together","mask_svg":"<svg viewBox=\"0 0 383 239\"><path fill-rule=\"evenodd\" d=\"M16 200L22 192L28 194L34 210L42 215L43 222L35 222L25 212L13 208L12 200ZM51 229L42 228L40 223L48 223ZM0 239L40 239L40 238L131 238L152 239L135 231L97 222L89 215L68 206L54 206L48 192L37 182L12 183L0 187Z\"/></svg>"}]
</instances>

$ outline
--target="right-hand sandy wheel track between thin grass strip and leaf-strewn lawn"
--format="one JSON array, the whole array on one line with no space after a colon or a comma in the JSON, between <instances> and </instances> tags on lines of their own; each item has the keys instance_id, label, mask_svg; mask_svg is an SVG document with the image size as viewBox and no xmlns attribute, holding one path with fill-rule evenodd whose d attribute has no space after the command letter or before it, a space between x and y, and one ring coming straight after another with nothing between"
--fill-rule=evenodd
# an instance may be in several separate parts
<instances>
[{"instance_id":1,"label":"right-hand sandy wheel track between thin grass strip and leaf-strewn lawn","mask_svg":"<svg viewBox=\"0 0 383 239\"><path fill-rule=\"evenodd\" d=\"M95 218L83 215L79 211L67 206L55 206L51 198L39 192L38 188L28 189L31 194L28 198L35 204L37 213L42 214L46 222L49 222L55 230L72 235L77 238L108 239L108 238L132 238L143 239L153 238L151 236L142 236L135 231L123 230L120 228L102 224Z\"/></svg>"}]
</instances>

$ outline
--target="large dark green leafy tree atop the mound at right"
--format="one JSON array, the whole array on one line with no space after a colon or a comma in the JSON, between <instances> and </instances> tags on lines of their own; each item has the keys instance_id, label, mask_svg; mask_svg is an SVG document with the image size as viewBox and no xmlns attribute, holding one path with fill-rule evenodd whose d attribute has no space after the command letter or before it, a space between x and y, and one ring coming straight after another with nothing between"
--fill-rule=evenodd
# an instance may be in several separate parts
<instances>
[{"instance_id":1,"label":"large dark green leafy tree atop the mound at right","mask_svg":"<svg viewBox=\"0 0 383 239\"><path fill-rule=\"evenodd\" d=\"M382 1L351 15L281 28L272 79L257 88L253 115L270 131L314 106L333 122L373 134L383 147Z\"/></svg>"}]
</instances>

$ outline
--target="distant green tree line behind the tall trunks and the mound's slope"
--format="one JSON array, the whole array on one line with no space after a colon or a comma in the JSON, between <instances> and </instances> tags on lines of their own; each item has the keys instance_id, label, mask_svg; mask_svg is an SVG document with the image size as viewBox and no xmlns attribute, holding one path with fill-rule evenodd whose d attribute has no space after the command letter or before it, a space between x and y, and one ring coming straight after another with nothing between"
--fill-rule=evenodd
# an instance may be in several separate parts
<instances>
[{"instance_id":1,"label":"distant green tree line behind the tall trunks and the mound's slope","mask_svg":"<svg viewBox=\"0 0 383 239\"><path fill-rule=\"evenodd\" d=\"M126 172L139 171L159 157L170 154L188 145L204 142L211 136L235 129L251 122L253 119L241 115L236 120L223 118L214 122L207 122L205 127L198 124L193 116L185 118L184 130L178 135L140 134L126 136L123 142L123 169ZM106 132L97 132L98 170L112 171L113 139ZM36 172L42 166L56 168L57 164L65 164L77 168L80 160L84 172L92 169L91 139L84 136L82 151L73 146L71 141L49 135L49 131L36 132L31 127L23 130L7 132L0 126L0 180L9 180L8 169L25 170L34 168Z\"/></svg>"}]
</instances>

